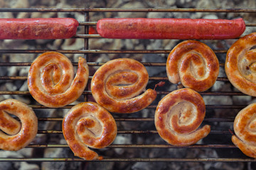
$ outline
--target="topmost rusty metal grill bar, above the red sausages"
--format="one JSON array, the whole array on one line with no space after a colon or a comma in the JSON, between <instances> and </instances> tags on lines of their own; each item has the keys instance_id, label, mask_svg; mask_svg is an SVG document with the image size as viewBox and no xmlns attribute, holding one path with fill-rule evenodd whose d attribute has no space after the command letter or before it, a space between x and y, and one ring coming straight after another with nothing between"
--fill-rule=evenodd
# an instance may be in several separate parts
<instances>
[{"instance_id":1,"label":"topmost rusty metal grill bar, above the red sausages","mask_svg":"<svg viewBox=\"0 0 256 170\"><path fill-rule=\"evenodd\" d=\"M254 8L0 8L0 12L214 12L255 13Z\"/></svg>"}]
</instances>

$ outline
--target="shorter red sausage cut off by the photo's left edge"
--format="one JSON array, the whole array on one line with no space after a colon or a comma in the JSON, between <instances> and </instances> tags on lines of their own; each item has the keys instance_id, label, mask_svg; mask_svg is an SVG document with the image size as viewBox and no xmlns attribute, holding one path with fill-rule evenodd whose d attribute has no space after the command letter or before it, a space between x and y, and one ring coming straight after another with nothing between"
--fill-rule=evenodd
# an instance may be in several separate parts
<instances>
[{"instance_id":1,"label":"shorter red sausage cut off by the photo's left edge","mask_svg":"<svg viewBox=\"0 0 256 170\"><path fill-rule=\"evenodd\" d=\"M71 38L78 25L74 18L0 18L0 40Z\"/></svg>"}]
</instances>

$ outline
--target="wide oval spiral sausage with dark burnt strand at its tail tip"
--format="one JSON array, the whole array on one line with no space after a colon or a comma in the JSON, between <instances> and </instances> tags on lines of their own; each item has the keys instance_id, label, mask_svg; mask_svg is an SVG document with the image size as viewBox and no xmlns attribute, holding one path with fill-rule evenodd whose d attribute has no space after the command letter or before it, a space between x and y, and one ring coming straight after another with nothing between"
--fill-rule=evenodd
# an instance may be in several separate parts
<instances>
[{"instance_id":1,"label":"wide oval spiral sausage with dark burnt strand at its tail tip","mask_svg":"<svg viewBox=\"0 0 256 170\"><path fill-rule=\"evenodd\" d=\"M100 106L114 113L134 113L149 106L156 91L146 87L149 74L136 60L122 58L102 65L92 77L92 96ZM136 96L136 97L135 97Z\"/></svg>"}]
</instances>

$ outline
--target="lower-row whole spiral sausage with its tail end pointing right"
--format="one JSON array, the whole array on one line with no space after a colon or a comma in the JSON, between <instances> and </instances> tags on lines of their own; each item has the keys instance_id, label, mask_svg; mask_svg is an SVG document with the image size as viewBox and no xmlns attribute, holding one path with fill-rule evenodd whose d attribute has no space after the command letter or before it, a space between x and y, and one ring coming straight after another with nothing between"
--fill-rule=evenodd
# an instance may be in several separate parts
<instances>
[{"instance_id":1,"label":"lower-row whole spiral sausage with its tail end pointing right","mask_svg":"<svg viewBox=\"0 0 256 170\"><path fill-rule=\"evenodd\" d=\"M179 89L159 101L156 130L171 145L193 145L210 132L210 125L198 129L205 115L206 106L200 94L191 89Z\"/></svg>"}]
</instances>

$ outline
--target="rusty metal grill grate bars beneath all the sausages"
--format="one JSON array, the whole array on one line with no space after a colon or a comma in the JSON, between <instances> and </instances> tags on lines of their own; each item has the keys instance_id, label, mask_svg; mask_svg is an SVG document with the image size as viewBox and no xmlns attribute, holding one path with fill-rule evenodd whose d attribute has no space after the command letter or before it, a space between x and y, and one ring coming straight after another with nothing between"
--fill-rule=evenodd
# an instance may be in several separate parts
<instances>
[{"instance_id":1,"label":"rusty metal grill grate bars beneath all the sausages","mask_svg":"<svg viewBox=\"0 0 256 170\"><path fill-rule=\"evenodd\" d=\"M0 50L0 55L2 54L39 54L47 51L56 51L63 54L82 54L88 61L89 67L101 66L103 62L90 62L90 54L169 54L170 50L89 50L89 39L90 38L101 38L100 35L89 35L88 28L89 26L95 26L97 22L90 22L89 13L90 12L203 12L203 13L255 13L256 9L219 9L219 8L0 8L0 12L82 12L85 16L85 21L80 21L80 26L85 27L85 34L75 35L74 38L83 38L84 49L83 50ZM246 23L247 27L255 27L256 23ZM228 50L214 50L217 54L225 54ZM32 61L31 61L32 62ZM0 62L0 67L29 67L31 62ZM144 62L146 67L165 67L166 63L160 62ZM78 66L77 62L73 62L74 66ZM220 63L220 67L224 67L224 63ZM0 81L18 81L26 80L27 77L24 76L0 76ZM92 77L89 77L89 83ZM167 77L149 77L149 80L152 81L168 81ZM228 81L227 77L218 77L217 81ZM169 94L170 91L158 91L159 95ZM206 91L200 93L202 96L246 96L241 92L236 91ZM0 91L0 95L30 95L29 91ZM87 96L91 95L91 91L85 89L83 92L84 101L87 101ZM46 106L41 106L37 104L29 105L33 109L48 109ZM64 106L60 109L70 109L73 105ZM151 105L145 109L156 108L156 104ZM210 109L242 109L245 108L245 105L206 105L206 115ZM238 113L234 111L235 114ZM136 113L135 113L136 114ZM114 114L114 118L117 122L154 122L154 118L129 118L124 114L122 116ZM235 117L226 118L225 115L221 115L221 118L205 118L204 122L206 123L232 123ZM57 121L62 122L63 118L38 118L38 121ZM157 135L156 130L118 130L118 135L127 134L127 135ZM61 130L38 130L38 134L47 134L47 135L61 135ZM228 135L231 140L231 133L229 130L211 130L210 135ZM26 148L68 148L68 145L65 144L36 144L28 145ZM141 144L141 145L110 145L107 147L109 149L114 148L125 148L125 149L237 149L234 145L230 144L210 144L206 145L192 145L188 147L175 147L171 145L155 145L155 144ZM85 162L85 160L80 158L1 158L0 162ZM256 162L256 159L251 159L247 157L237 157L237 158L105 158L103 160L94 160L92 162Z\"/></svg>"}]
</instances>

